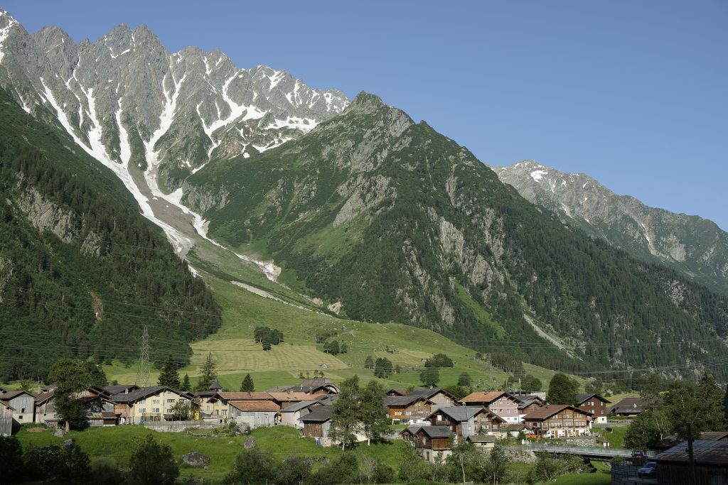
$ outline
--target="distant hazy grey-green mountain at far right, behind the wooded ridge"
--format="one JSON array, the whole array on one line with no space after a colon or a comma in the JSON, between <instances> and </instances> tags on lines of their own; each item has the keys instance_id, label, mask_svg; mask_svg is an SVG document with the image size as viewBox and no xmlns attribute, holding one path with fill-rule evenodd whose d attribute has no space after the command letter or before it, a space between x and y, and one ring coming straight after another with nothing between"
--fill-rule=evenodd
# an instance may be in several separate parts
<instances>
[{"instance_id":1,"label":"distant hazy grey-green mountain at far right, behind the wooded ridge","mask_svg":"<svg viewBox=\"0 0 728 485\"><path fill-rule=\"evenodd\" d=\"M587 175L566 174L534 161L494 170L521 196L587 234L728 294L728 233L710 220L647 207Z\"/></svg>"}]
</instances>

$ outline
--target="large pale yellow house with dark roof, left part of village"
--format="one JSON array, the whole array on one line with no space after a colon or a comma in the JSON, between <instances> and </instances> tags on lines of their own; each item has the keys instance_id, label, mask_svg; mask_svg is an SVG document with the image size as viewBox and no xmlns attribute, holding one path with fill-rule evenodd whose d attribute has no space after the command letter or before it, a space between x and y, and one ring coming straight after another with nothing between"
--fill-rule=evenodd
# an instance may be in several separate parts
<instances>
[{"instance_id":1,"label":"large pale yellow house with dark roof, left part of village","mask_svg":"<svg viewBox=\"0 0 728 485\"><path fill-rule=\"evenodd\" d=\"M111 396L114 414L119 416L119 424L137 424L149 421L174 421L173 407L183 402L190 408L191 417L199 417L197 396L166 385L151 385L130 393Z\"/></svg>"}]
</instances>

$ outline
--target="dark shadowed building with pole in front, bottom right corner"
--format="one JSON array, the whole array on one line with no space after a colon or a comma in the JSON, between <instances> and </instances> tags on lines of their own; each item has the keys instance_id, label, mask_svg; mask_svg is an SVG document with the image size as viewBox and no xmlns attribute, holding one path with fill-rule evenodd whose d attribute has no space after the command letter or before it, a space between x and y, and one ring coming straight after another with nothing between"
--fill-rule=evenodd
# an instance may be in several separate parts
<instances>
[{"instance_id":1,"label":"dark shadowed building with pole in front, bottom right corner","mask_svg":"<svg viewBox=\"0 0 728 485\"><path fill-rule=\"evenodd\" d=\"M691 470L684 441L657 455L657 483L728 484L728 441L695 440Z\"/></svg>"}]
</instances>

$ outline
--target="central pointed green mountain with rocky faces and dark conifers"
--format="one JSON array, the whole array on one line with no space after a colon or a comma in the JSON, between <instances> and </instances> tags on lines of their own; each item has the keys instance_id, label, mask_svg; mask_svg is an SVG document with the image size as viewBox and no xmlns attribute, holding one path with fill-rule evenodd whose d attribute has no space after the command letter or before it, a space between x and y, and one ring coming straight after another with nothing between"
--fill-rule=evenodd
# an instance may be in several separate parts
<instances>
[{"instance_id":1,"label":"central pointed green mountain with rocky faces and dark conifers","mask_svg":"<svg viewBox=\"0 0 728 485\"><path fill-rule=\"evenodd\" d=\"M727 298L564 227L372 95L298 140L211 164L183 190L211 235L269 254L284 281L351 318L485 349L542 342L513 354L550 366L669 370L728 355Z\"/></svg>"}]
</instances>

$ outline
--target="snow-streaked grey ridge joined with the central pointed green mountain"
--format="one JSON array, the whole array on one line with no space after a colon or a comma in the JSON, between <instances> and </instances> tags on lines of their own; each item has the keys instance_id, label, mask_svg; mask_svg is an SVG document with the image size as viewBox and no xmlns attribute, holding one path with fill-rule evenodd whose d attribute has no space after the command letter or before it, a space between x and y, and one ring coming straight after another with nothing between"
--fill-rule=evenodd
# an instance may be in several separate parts
<instances>
[{"instance_id":1,"label":"snow-streaked grey ridge joined with the central pointed green mountain","mask_svg":"<svg viewBox=\"0 0 728 485\"><path fill-rule=\"evenodd\" d=\"M180 257L207 241L321 310L551 368L679 375L728 355L728 297L565 225L374 95L170 54L143 26L74 44L2 12L0 52L18 109L114 173Z\"/></svg>"}]
</instances>

